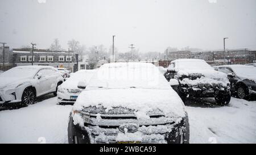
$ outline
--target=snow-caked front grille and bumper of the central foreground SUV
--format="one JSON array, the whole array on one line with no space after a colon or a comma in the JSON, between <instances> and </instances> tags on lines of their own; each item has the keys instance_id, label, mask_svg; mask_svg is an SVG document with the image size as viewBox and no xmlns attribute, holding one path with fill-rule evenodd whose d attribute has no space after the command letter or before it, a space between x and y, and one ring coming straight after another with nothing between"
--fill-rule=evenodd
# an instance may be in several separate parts
<instances>
[{"instance_id":1,"label":"snow-caked front grille and bumper of the central foreground SUV","mask_svg":"<svg viewBox=\"0 0 256 155\"><path fill-rule=\"evenodd\" d=\"M77 114L75 114L77 115ZM79 117L80 118L80 117ZM90 118L88 123L76 124L70 118L69 143L188 143L189 126L186 118L100 119ZM74 121L75 120L75 121ZM131 132L123 124L138 127ZM130 131L130 132L129 132Z\"/></svg>"}]
</instances>

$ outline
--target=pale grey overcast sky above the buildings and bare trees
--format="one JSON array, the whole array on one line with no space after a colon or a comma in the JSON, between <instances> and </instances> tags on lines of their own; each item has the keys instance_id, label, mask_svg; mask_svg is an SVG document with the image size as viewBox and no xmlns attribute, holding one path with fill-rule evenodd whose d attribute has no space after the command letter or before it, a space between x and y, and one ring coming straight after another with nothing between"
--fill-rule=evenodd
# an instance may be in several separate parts
<instances>
[{"instance_id":1,"label":"pale grey overcast sky above the buildings and bare trees","mask_svg":"<svg viewBox=\"0 0 256 155\"><path fill-rule=\"evenodd\" d=\"M58 38L127 52L163 52L168 46L256 49L255 0L1 0L0 42L11 48Z\"/></svg>"}]
</instances>

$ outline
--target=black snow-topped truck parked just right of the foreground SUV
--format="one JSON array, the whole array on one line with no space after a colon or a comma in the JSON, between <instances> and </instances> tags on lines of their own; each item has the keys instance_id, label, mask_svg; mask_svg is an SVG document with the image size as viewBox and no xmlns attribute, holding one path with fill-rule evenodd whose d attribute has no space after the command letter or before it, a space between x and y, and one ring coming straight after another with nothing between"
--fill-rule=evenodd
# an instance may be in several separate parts
<instances>
[{"instance_id":1,"label":"black snow-topped truck parked just right of the foreground SUV","mask_svg":"<svg viewBox=\"0 0 256 155\"><path fill-rule=\"evenodd\" d=\"M214 97L220 105L230 102L230 82L227 75L214 70L204 60L174 60L164 76L183 100L187 97Z\"/></svg>"}]
</instances>

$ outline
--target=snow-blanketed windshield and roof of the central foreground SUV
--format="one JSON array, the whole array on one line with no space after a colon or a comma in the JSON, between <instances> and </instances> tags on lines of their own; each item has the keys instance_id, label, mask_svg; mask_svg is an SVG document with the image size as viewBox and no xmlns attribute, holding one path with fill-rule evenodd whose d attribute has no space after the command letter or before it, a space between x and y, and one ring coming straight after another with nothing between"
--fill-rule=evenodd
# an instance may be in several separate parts
<instances>
[{"instance_id":1,"label":"snow-blanketed windshield and roof of the central foreground SUV","mask_svg":"<svg viewBox=\"0 0 256 155\"><path fill-rule=\"evenodd\" d=\"M104 64L91 79L88 88L159 88L169 89L159 69L151 63L118 62Z\"/></svg>"}]
</instances>

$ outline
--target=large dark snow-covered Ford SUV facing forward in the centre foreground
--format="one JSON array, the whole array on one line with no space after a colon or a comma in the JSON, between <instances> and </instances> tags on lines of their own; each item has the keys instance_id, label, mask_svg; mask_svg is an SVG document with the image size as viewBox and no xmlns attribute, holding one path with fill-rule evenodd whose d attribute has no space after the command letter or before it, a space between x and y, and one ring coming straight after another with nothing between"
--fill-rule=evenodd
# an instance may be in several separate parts
<instances>
[{"instance_id":1,"label":"large dark snow-covered Ford SUV facing forward in the centre foreground","mask_svg":"<svg viewBox=\"0 0 256 155\"><path fill-rule=\"evenodd\" d=\"M179 95L150 63L104 64L77 98L69 143L189 143Z\"/></svg>"}]
</instances>

